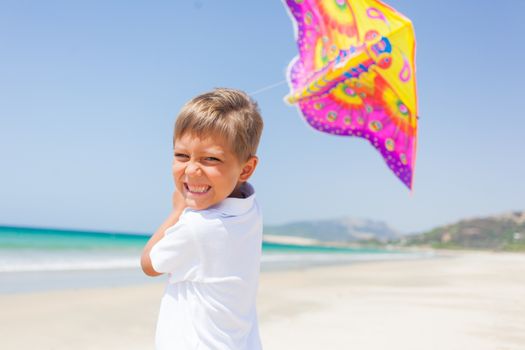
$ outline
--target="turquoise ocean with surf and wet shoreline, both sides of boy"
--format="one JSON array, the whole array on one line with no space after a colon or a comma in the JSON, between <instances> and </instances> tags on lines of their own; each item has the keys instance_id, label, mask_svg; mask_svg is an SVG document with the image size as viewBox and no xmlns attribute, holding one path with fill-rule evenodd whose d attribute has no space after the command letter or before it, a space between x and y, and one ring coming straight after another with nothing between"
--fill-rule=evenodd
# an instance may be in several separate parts
<instances>
[{"instance_id":1,"label":"turquoise ocean with surf and wet shoreline, both sides of boy","mask_svg":"<svg viewBox=\"0 0 525 350\"><path fill-rule=\"evenodd\" d=\"M104 281L123 285L155 280L140 271L140 255L148 239L148 235L140 234L0 226L0 293L107 285ZM264 242L261 270L423 255Z\"/></svg>"}]
</instances>

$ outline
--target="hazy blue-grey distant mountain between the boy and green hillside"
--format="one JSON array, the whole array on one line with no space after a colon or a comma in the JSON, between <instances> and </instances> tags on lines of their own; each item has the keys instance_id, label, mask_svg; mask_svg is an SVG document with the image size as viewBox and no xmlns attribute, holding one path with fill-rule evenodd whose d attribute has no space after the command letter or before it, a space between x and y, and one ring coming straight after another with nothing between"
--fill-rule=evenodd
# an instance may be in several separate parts
<instances>
[{"instance_id":1,"label":"hazy blue-grey distant mountain between the boy and green hillside","mask_svg":"<svg viewBox=\"0 0 525 350\"><path fill-rule=\"evenodd\" d=\"M267 237L302 237L324 243L354 243L358 241L386 242L401 235L385 222L340 218L332 220L297 221L264 227Z\"/></svg>"}]
</instances>

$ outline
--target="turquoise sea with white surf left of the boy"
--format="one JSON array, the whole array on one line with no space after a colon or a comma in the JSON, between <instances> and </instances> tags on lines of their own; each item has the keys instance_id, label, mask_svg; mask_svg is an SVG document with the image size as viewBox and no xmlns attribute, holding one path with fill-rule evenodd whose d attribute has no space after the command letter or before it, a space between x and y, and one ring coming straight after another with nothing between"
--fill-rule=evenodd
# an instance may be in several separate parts
<instances>
[{"instance_id":1,"label":"turquoise sea with white surf left of the boy","mask_svg":"<svg viewBox=\"0 0 525 350\"><path fill-rule=\"evenodd\" d=\"M0 226L0 272L133 268L145 235Z\"/></svg>"}]
</instances>

